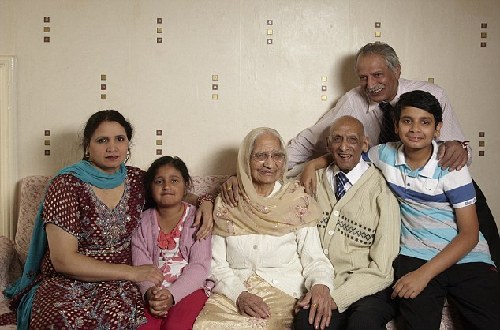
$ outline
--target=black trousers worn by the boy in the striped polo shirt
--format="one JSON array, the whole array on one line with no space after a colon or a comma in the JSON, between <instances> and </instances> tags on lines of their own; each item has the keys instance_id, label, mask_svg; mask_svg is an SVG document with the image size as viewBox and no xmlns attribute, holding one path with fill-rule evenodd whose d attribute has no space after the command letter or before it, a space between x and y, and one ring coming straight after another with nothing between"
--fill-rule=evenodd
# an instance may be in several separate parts
<instances>
[{"instance_id":1,"label":"black trousers worn by the boy in the striped polo shirt","mask_svg":"<svg viewBox=\"0 0 500 330\"><path fill-rule=\"evenodd\" d=\"M396 278L424 263L422 259L398 256ZM433 278L416 298L398 298L403 329L439 329L445 298L462 316L467 325L465 329L498 329L500 282L492 265L482 262L455 264Z\"/></svg>"}]
</instances>

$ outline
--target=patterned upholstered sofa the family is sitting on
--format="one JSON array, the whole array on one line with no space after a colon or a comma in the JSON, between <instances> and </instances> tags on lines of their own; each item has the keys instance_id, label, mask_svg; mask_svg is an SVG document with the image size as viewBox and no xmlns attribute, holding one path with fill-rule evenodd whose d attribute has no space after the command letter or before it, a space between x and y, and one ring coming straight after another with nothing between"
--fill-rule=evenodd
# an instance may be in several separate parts
<instances>
[{"instance_id":1,"label":"patterned upholstered sofa the family is sitting on","mask_svg":"<svg viewBox=\"0 0 500 330\"><path fill-rule=\"evenodd\" d=\"M193 177L192 192L197 195L214 193L226 179L227 176L224 175L195 176ZM38 175L25 177L19 182L17 232L14 241L8 237L0 236L0 264L3 265L0 267L0 290L2 292L22 273L22 265L26 260L33 229L33 220L49 181L50 177ZM8 311L8 301L2 295L0 314ZM457 322L454 322L456 318L457 315L454 315L450 306L446 305L443 309L440 329L462 329ZM0 327L0 329L15 328L15 325ZM387 325L387 329L396 329L394 321Z\"/></svg>"}]
</instances>

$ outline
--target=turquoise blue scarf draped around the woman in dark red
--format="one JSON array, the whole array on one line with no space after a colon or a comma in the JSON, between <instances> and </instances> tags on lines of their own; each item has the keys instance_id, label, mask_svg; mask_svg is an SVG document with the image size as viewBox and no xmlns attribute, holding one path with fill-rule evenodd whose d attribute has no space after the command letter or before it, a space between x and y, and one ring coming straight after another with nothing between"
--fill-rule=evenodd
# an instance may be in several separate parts
<instances>
[{"instance_id":1,"label":"turquoise blue scarf draped around the woman in dark red","mask_svg":"<svg viewBox=\"0 0 500 330\"><path fill-rule=\"evenodd\" d=\"M107 174L88 161L82 160L76 164L63 168L56 174L56 177L61 174L71 174L83 182L100 189L112 189L118 187L125 181L127 168L122 163L118 171L113 174ZM29 328L31 305L35 292L40 285L38 283L33 286L32 282L40 273L40 264L47 249L47 234L42 219L44 199L45 197L42 199L40 207L38 208L38 213L35 217L33 234L31 235L30 247L28 249L26 263L24 264L23 275L4 291L4 295L7 298L12 298L23 290L30 289L23 295L17 307L17 329L22 330Z\"/></svg>"}]
</instances>

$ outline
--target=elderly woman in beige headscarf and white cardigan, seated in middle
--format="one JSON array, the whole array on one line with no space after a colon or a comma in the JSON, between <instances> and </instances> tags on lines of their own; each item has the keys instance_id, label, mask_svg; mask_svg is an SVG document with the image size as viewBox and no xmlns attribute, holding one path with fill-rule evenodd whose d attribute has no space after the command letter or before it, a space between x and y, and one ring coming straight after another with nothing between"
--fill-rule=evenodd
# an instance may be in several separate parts
<instances>
[{"instance_id":1,"label":"elderly woman in beige headscarf and white cardigan, seated in middle","mask_svg":"<svg viewBox=\"0 0 500 330\"><path fill-rule=\"evenodd\" d=\"M217 197L215 287L194 329L286 329L294 308L309 308L318 328L329 323L333 268L316 228L321 213L297 182L284 182L286 162L275 130L257 128L243 140L241 198L232 207Z\"/></svg>"}]
</instances>

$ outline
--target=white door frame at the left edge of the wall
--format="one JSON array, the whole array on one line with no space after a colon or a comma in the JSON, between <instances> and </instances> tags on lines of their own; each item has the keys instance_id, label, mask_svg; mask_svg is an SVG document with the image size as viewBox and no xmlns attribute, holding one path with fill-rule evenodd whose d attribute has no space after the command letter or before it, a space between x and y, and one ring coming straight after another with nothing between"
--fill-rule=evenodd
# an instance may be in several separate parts
<instances>
[{"instance_id":1,"label":"white door frame at the left edge of the wall","mask_svg":"<svg viewBox=\"0 0 500 330\"><path fill-rule=\"evenodd\" d=\"M16 58L0 55L0 235L14 238L17 182Z\"/></svg>"}]
</instances>

